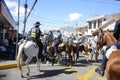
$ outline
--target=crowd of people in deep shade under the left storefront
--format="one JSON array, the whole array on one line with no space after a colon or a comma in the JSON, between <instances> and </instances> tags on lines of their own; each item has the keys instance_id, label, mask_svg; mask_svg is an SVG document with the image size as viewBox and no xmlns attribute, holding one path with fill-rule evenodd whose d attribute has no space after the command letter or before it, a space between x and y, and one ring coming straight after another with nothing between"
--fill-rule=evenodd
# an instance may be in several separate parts
<instances>
[{"instance_id":1,"label":"crowd of people in deep shade under the left storefront","mask_svg":"<svg viewBox=\"0 0 120 80\"><path fill-rule=\"evenodd\" d=\"M3 40L0 41L0 59L15 59L16 53L16 40L12 36L5 36Z\"/></svg>"}]
</instances>

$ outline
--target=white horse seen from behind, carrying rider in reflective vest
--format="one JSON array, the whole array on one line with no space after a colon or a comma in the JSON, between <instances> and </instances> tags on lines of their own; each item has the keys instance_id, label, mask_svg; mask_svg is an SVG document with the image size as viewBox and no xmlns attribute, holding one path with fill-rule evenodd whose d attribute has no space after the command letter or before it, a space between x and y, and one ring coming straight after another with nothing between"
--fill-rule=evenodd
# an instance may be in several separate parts
<instances>
[{"instance_id":1,"label":"white horse seen from behind, carrying rider in reflective vest","mask_svg":"<svg viewBox=\"0 0 120 80\"><path fill-rule=\"evenodd\" d=\"M33 41L24 41L23 43L21 43L19 45L18 55L17 55L17 66L21 73L21 77L24 77L23 72L22 72L22 54L23 54L23 52L28 57L26 60L28 72L26 73L26 75L27 75L27 79L29 80L30 68L28 65L33 57L36 57L38 70L40 71L40 60L38 59L39 47L35 46L35 43Z\"/></svg>"}]
</instances>

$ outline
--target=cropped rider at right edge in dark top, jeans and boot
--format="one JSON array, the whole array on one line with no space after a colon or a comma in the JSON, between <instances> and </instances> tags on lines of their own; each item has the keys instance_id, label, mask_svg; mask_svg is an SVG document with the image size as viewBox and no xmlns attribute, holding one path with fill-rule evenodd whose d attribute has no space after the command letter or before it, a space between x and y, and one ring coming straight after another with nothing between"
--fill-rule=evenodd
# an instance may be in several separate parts
<instances>
[{"instance_id":1,"label":"cropped rider at right edge in dark top, jeans and boot","mask_svg":"<svg viewBox=\"0 0 120 80\"><path fill-rule=\"evenodd\" d=\"M117 42L112 44L114 46L116 46L117 49L120 49L120 19L116 22L115 24L115 28L114 28L114 33L113 33L114 37L116 38ZM106 63L107 63L107 58L106 58L106 52L107 50L110 48L111 46L108 46L105 53L103 54L103 58L102 58L102 64L101 66L99 66L95 72L99 73L101 76L104 76L104 71L105 71L105 67L106 67Z\"/></svg>"}]
</instances>

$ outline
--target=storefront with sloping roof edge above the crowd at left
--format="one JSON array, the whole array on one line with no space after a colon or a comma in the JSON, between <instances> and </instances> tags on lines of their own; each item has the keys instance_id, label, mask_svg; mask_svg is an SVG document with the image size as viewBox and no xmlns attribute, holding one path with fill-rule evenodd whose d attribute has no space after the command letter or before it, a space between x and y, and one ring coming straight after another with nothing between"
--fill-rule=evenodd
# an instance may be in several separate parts
<instances>
[{"instance_id":1,"label":"storefront with sloping roof edge above the crowd at left","mask_svg":"<svg viewBox=\"0 0 120 80\"><path fill-rule=\"evenodd\" d=\"M14 31L16 22L14 21L4 0L0 0L0 40L10 35ZM17 31L17 30L16 30Z\"/></svg>"}]
</instances>

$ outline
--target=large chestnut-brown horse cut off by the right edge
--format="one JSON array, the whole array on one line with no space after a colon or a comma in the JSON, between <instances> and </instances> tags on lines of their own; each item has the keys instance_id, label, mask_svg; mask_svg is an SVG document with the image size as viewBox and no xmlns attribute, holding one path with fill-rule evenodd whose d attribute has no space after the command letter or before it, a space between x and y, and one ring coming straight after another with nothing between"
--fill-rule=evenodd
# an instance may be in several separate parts
<instances>
[{"instance_id":1,"label":"large chestnut-brown horse cut off by the right edge","mask_svg":"<svg viewBox=\"0 0 120 80\"><path fill-rule=\"evenodd\" d=\"M115 42L116 39L114 38L113 33L110 33L109 31L105 31L103 33L101 30L98 38L99 47L102 45L110 46ZM107 80L120 80L120 50L115 49L114 51L110 52L111 54L109 55L106 65Z\"/></svg>"}]
</instances>

